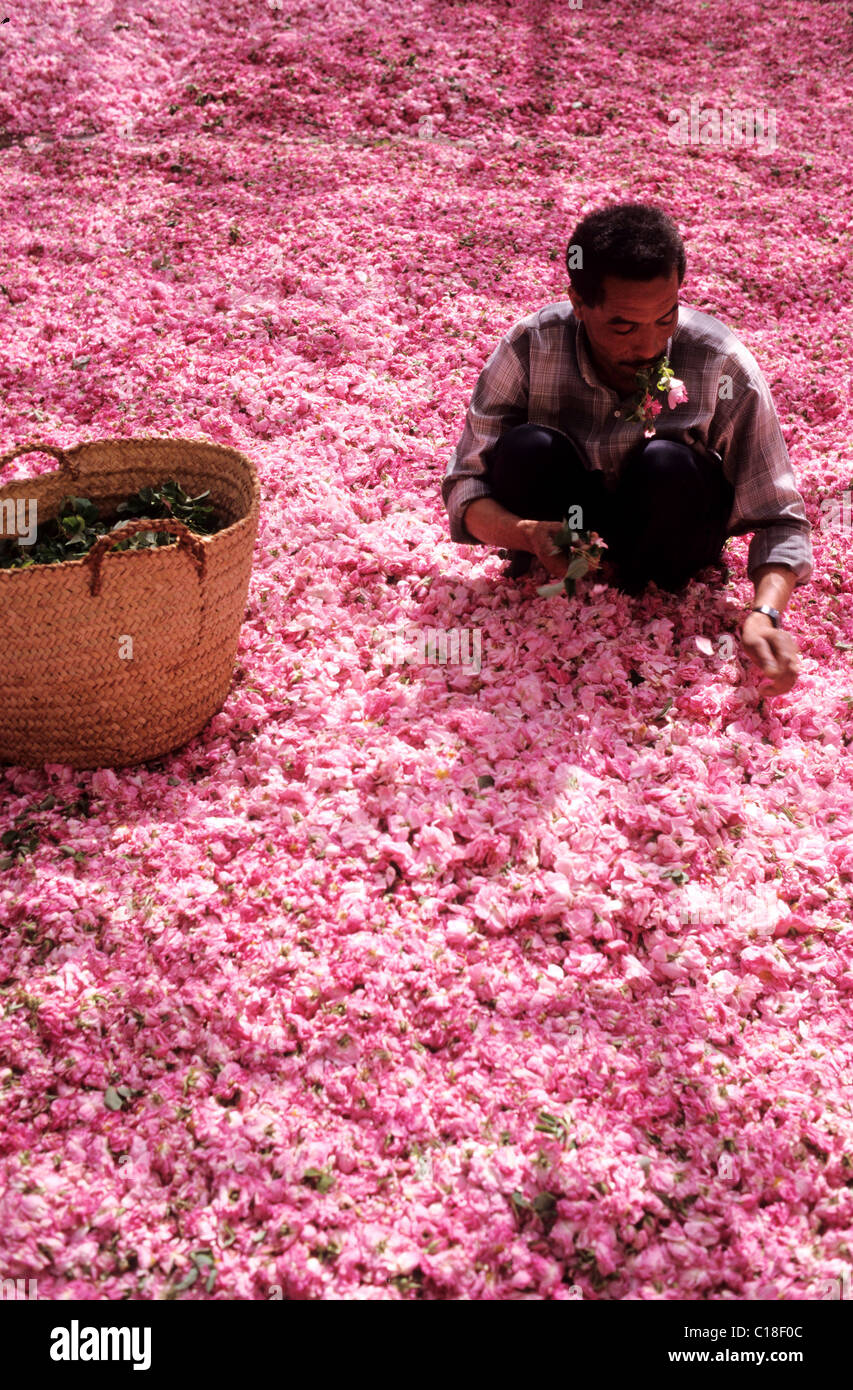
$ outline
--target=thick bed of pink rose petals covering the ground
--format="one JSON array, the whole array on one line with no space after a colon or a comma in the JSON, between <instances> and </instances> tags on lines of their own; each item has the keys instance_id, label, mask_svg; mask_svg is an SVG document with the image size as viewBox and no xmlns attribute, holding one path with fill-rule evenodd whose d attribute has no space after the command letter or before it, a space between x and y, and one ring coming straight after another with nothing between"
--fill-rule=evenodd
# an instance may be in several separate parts
<instances>
[{"instance_id":1,"label":"thick bed of pink rose petals covering the ground","mask_svg":"<svg viewBox=\"0 0 853 1390\"><path fill-rule=\"evenodd\" d=\"M40 840L0 874L0 1273L815 1297L853 1248L838 15L203 10L22 0L1 38L3 448L204 435L264 500L204 735L3 774ZM674 149L693 92L775 106L778 149ZM627 195L756 352L815 524L772 702L725 641L746 539L728 585L567 600L446 538L482 363ZM477 632L479 671L392 664L407 627ZM681 920L732 884L775 906Z\"/></svg>"}]
</instances>

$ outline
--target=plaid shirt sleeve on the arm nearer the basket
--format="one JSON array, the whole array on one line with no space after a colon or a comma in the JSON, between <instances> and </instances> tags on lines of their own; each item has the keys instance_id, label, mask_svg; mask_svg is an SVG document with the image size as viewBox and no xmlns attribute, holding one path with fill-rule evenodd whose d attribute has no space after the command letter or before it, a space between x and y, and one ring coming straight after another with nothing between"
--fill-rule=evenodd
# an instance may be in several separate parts
<instances>
[{"instance_id":1,"label":"plaid shirt sleeve on the arm nearer the basket","mask_svg":"<svg viewBox=\"0 0 853 1390\"><path fill-rule=\"evenodd\" d=\"M463 514L477 498L490 498L486 455L508 430L524 424L529 395L529 336L515 324L479 374L465 425L450 455L442 481L442 500L450 518L450 539L483 545L465 528Z\"/></svg>"}]
</instances>

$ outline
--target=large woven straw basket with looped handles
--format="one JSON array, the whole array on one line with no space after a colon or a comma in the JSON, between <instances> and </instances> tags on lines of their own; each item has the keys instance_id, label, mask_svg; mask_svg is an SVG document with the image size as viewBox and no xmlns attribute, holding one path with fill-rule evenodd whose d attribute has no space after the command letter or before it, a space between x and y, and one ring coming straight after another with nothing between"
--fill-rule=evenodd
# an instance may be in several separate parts
<instances>
[{"instance_id":1,"label":"large woven straw basket with looped handles","mask_svg":"<svg viewBox=\"0 0 853 1390\"><path fill-rule=\"evenodd\" d=\"M200 537L181 521L133 521L114 539L165 530L176 545L111 550L101 537L81 560L0 570L0 763L125 767L181 748L228 695L258 524L254 464L203 439L99 439L72 449L25 443L0 456L49 453L60 467L0 486L53 520L65 496L101 518L143 486L176 478L226 523ZM6 530L8 534L8 528Z\"/></svg>"}]
</instances>

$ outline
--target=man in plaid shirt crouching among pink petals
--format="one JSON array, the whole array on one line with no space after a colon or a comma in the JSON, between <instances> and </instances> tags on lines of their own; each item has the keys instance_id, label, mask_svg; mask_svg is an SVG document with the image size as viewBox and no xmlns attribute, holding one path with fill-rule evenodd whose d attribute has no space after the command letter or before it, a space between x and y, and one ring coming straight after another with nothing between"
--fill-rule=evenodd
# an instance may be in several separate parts
<instances>
[{"instance_id":1,"label":"man in plaid shirt crouching among pink petals","mask_svg":"<svg viewBox=\"0 0 853 1390\"><path fill-rule=\"evenodd\" d=\"M740 641L771 685L797 678L781 626L811 578L811 527L772 398L735 334L679 303L686 256L659 208L592 213L567 253L568 300L517 322L486 361L442 496L450 538L563 578L563 518L607 542L610 578L679 592L753 532Z\"/></svg>"}]
</instances>

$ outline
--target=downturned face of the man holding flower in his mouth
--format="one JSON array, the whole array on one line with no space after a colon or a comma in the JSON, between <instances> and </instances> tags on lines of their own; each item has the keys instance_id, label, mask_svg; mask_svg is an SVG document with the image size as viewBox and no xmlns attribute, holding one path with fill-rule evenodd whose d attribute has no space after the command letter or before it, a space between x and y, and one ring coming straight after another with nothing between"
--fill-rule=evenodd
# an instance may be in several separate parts
<instances>
[{"instance_id":1,"label":"downturned face of the man holding flower in his mouth","mask_svg":"<svg viewBox=\"0 0 853 1390\"><path fill-rule=\"evenodd\" d=\"M657 279L604 277L604 300L589 309L570 289L572 309L586 329L602 379L629 395L636 373L665 352L678 322L678 271Z\"/></svg>"}]
</instances>

